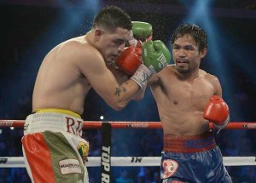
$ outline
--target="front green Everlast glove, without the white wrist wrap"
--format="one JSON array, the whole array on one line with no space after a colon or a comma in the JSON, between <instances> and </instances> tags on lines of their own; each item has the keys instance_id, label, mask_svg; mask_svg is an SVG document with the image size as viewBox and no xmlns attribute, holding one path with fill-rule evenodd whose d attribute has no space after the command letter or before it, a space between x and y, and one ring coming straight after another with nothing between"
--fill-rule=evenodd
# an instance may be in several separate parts
<instances>
[{"instance_id":1,"label":"front green Everlast glove, without the white wrist wrap","mask_svg":"<svg viewBox=\"0 0 256 183\"><path fill-rule=\"evenodd\" d=\"M146 42L143 45L143 64L153 73L165 68L171 61L171 53L160 40Z\"/></svg>"}]
</instances>

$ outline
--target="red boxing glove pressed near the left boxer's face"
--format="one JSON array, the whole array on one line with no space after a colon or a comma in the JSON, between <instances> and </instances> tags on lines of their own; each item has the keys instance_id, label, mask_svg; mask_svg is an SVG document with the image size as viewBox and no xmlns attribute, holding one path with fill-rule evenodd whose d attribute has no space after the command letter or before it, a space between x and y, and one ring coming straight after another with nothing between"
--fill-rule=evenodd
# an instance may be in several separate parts
<instances>
[{"instance_id":1,"label":"red boxing glove pressed near the left boxer's face","mask_svg":"<svg viewBox=\"0 0 256 183\"><path fill-rule=\"evenodd\" d=\"M141 51L139 52L138 48L134 48L133 46L127 47L121 54L119 54L115 60L115 65L119 70L132 76L142 64L141 56L138 54L141 54Z\"/></svg>"}]
</instances>

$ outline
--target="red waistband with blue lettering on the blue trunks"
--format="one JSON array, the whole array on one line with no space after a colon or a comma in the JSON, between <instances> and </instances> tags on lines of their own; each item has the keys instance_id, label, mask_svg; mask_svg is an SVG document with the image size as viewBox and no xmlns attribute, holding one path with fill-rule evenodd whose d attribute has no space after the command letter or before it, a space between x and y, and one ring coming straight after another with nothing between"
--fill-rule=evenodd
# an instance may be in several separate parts
<instances>
[{"instance_id":1,"label":"red waistband with blue lettering on the blue trunks","mask_svg":"<svg viewBox=\"0 0 256 183\"><path fill-rule=\"evenodd\" d=\"M164 152L204 152L216 146L212 131L200 135L164 135Z\"/></svg>"}]
</instances>

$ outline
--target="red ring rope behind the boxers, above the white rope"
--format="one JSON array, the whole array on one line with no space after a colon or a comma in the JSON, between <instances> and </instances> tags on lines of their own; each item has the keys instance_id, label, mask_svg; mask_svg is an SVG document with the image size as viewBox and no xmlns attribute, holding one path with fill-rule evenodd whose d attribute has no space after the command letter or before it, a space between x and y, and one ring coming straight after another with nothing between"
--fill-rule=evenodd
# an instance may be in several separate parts
<instances>
[{"instance_id":1,"label":"red ring rope behind the boxers, above the white rope","mask_svg":"<svg viewBox=\"0 0 256 183\"><path fill-rule=\"evenodd\" d=\"M23 128L25 120L3 120L0 119L0 128L15 127ZM84 121L84 129L101 129L102 121ZM162 129L160 122L109 122L113 129ZM212 123L209 123L213 129ZM226 129L256 129L255 122L233 122Z\"/></svg>"}]
</instances>

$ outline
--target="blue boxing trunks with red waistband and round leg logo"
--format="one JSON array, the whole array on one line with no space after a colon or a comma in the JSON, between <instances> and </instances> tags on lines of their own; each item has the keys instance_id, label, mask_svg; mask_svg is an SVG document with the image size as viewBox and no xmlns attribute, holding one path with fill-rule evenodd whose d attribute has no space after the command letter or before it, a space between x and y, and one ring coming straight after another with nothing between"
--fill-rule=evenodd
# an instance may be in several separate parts
<instances>
[{"instance_id":1,"label":"blue boxing trunks with red waistband and round leg logo","mask_svg":"<svg viewBox=\"0 0 256 183\"><path fill-rule=\"evenodd\" d=\"M230 183L230 175L212 132L195 136L164 135L162 183Z\"/></svg>"}]
</instances>

